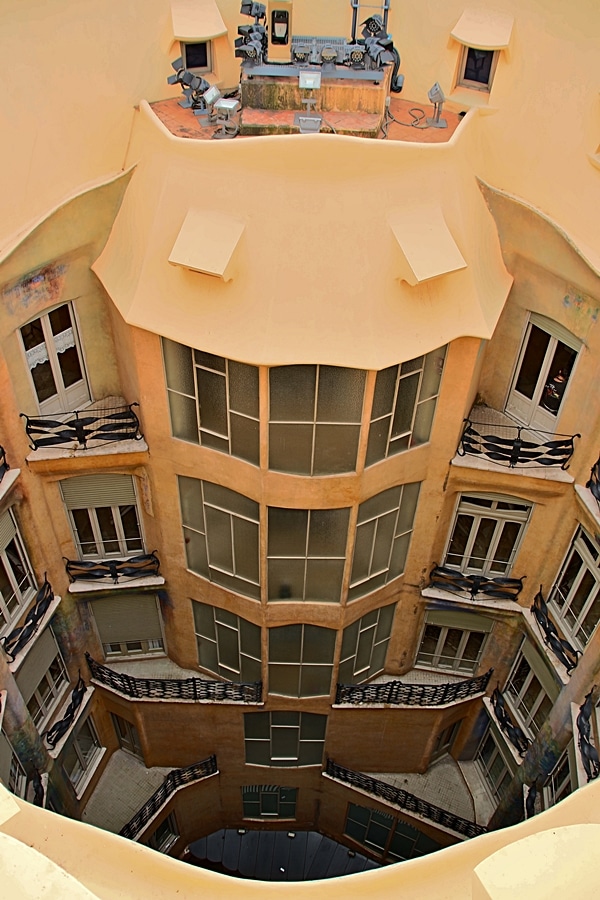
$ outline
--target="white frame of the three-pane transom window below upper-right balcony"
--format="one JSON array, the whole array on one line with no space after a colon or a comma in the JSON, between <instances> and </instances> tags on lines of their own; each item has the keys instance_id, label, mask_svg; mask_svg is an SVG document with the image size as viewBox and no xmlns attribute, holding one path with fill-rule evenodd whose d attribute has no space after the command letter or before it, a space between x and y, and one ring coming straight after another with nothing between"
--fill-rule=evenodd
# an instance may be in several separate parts
<instances>
[{"instance_id":1,"label":"white frame of the three-pane transom window below upper-right balcony","mask_svg":"<svg viewBox=\"0 0 600 900\"><path fill-rule=\"evenodd\" d=\"M484 506L483 504L478 505L477 503L470 503L470 500L491 501L492 505L489 507ZM510 509L502 510L498 508L498 504L500 503L508 503L527 507L527 509L524 511ZM534 504L530 503L528 500L522 500L519 497L512 497L505 494L477 493L475 491L459 494L456 503L456 509L452 519L452 527L449 531L448 540L444 551L444 565L448 566L451 569L456 569L463 575L483 575L488 578L503 578L510 575L513 569L514 561L520 550L525 531L529 524L529 520L533 512L533 507ZM466 540L464 550L462 551L460 564L449 559L451 555L454 535L457 530L459 516L473 518L473 522L469 528L469 536ZM493 535L489 541L485 557L474 557L472 551L482 527L482 521L484 519L493 519L496 524L494 526ZM507 523L518 525L518 532L512 545L512 549L508 555L508 559L496 559L495 554L500 545L504 527ZM452 555L458 557L458 553L453 553ZM481 568L476 568L475 566L469 565L469 562L474 558L483 560ZM501 570L500 568L493 568L494 566L500 565L504 566L503 570Z\"/></svg>"}]
</instances>

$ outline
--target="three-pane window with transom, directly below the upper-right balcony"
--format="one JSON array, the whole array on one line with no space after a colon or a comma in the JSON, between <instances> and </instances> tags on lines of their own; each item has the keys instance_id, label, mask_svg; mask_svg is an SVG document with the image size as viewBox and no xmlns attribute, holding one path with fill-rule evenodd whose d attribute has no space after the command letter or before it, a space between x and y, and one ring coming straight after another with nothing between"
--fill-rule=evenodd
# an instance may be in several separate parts
<instances>
[{"instance_id":1,"label":"three-pane window with transom, directly below the upper-right balcony","mask_svg":"<svg viewBox=\"0 0 600 900\"><path fill-rule=\"evenodd\" d=\"M461 494L445 565L463 574L509 575L531 504L493 494Z\"/></svg>"}]
</instances>

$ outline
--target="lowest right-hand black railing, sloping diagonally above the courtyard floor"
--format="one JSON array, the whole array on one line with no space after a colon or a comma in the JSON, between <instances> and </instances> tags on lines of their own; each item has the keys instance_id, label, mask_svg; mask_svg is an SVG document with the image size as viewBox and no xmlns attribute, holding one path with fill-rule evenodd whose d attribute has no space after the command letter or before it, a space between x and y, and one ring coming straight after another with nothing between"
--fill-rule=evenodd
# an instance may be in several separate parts
<instances>
[{"instance_id":1,"label":"lowest right-hand black railing, sloping diagonally above the courtyard floor","mask_svg":"<svg viewBox=\"0 0 600 900\"><path fill-rule=\"evenodd\" d=\"M485 834L487 831L483 825L477 825L476 822L463 819L462 816L457 816L447 809L442 809L441 806L429 803L428 800L415 797L414 794L410 794L402 788L394 787L385 781L379 781L378 778L371 778L370 775L364 775L362 772L346 769L345 766L338 765L332 759L327 760L325 774L329 775L330 778L335 778L336 781L342 781L344 784L366 791L374 797L380 797L388 803L393 803L395 806L399 806L400 809L423 816L430 822L435 822L436 825L451 828L452 831L456 831L465 837L477 837L480 834Z\"/></svg>"}]
</instances>

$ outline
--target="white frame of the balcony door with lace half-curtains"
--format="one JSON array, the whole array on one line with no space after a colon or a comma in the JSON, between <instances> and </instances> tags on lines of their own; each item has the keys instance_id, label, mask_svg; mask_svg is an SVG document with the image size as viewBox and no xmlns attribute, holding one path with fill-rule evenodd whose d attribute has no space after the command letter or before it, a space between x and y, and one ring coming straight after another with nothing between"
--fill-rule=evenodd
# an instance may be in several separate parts
<instances>
[{"instance_id":1,"label":"white frame of the balcony door with lace half-curtains","mask_svg":"<svg viewBox=\"0 0 600 900\"><path fill-rule=\"evenodd\" d=\"M66 307L68 310L69 318L71 321L70 328L65 329L59 334L55 335L52 333L52 326L50 324L50 316L53 312L60 309L61 307ZM41 344L34 345L33 348L29 350L25 347L25 339L23 337L22 329L28 328L29 326L33 326L35 322L40 322L40 328L44 337L44 340ZM72 339L73 343L70 346L66 346L64 349L70 349L70 347L74 347L77 353L77 360L79 363L79 368L81 370L81 379L79 379L74 384L65 387L64 380L62 377L62 371L60 367L60 363L58 360L59 351L57 350L57 341L61 335L67 334L68 331L72 331ZM71 301L67 303L59 303L57 306L52 307L52 309L47 309L44 312L40 313L40 315L35 316L33 319L30 319L28 322L25 322L19 328L19 337L21 340L21 346L23 349L23 353L25 355L25 362L27 367L27 372L29 376L29 381L33 390L33 395L36 399L36 403L38 405L38 409L40 414L42 415L53 415L60 413L68 413L73 410L80 409L84 406L87 406L92 401L92 394L90 389L89 378L87 375L87 368L85 365L85 356L83 353L83 347L81 343L81 339L79 337L79 325L77 322L77 316L75 312L75 306ZM69 340L70 338L66 338ZM34 350L36 347L45 346L47 353L47 361L50 365L50 371L52 373L52 378L54 380L54 386L56 388L56 393L52 394L50 397L47 397L46 400L40 400L38 390L35 385L35 381L33 379L33 368L30 366L30 359L35 357ZM29 356L28 356L29 354ZM40 362L45 362L46 360L40 360Z\"/></svg>"}]
</instances>

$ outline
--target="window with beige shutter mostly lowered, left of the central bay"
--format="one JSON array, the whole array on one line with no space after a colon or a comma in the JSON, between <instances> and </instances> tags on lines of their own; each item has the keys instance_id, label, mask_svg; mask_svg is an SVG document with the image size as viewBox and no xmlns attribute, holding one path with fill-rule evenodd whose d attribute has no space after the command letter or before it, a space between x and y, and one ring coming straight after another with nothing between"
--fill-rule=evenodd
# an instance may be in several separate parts
<instances>
[{"instance_id":1,"label":"window with beige shutter mostly lowered, left of the central bay","mask_svg":"<svg viewBox=\"0 0 600 900\"><path fill-rule=\"evenodd\" d=\"M90 607L107 659L164 655L160 613L154 594L126 594L92 600Z\"/></svg>"}]
</instances>

